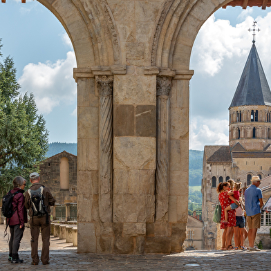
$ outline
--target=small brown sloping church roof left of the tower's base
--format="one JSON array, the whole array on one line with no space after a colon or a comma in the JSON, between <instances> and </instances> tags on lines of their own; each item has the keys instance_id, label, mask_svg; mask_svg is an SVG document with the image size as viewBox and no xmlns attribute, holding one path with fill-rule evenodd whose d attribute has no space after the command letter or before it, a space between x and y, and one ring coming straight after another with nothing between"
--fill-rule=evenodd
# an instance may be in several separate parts
<instances>
[{"instance_id":1,"label":"small brown sloping church roof left of the tower's base","mask_svg":"<svg viewBox=\"0 0 271 271\"><path fill-rule=\"evenodd\" d=\"M232 162L230 146L205 146L206 162Z\"/></svg>"}]
</instances>

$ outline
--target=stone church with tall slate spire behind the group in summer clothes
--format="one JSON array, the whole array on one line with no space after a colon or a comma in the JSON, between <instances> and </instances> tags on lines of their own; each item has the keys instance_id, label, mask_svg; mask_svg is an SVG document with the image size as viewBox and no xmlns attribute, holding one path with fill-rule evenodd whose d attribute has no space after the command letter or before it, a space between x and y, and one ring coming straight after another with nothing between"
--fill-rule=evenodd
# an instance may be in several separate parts
<instances>
[{"instance_id":1,"label":"stone church with tall slate spire behind the group in summer clothes","mask_svg":"<svg viewBox=\"0 0 271 271\"><path fill-rule=\"evenodd\" d=\"M230 178L251 185L252 176L263 179L264 203L271 191L271 92L253 40L245 68L230 104L228 146L205 146L203 155L204 248L221 247L220 224L212 221L218 203L216 187ZM270 177L268 177L270 176ZM265 183L265 185L264 185ZM270 248L270 213L263 212L256 243Z\"/></svg>"}]
</instances>

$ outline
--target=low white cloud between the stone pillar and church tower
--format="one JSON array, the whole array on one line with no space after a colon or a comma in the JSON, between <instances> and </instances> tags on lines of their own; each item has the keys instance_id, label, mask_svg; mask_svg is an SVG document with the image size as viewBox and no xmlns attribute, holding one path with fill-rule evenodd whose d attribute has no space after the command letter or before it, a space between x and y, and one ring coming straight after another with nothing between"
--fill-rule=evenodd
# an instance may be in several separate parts
<instances>
[{"instance_id":1,"label":"low white cloud between the stone pillar and church tower","mask_svg":"<svg viewBox=\"0 0 271 271\"><path fill-rule=\"evenodd\" d=\"M190 122L189 149L202 151L206 144L229 144L227 120L193 118Z\"/></svg>"}]
</instances>

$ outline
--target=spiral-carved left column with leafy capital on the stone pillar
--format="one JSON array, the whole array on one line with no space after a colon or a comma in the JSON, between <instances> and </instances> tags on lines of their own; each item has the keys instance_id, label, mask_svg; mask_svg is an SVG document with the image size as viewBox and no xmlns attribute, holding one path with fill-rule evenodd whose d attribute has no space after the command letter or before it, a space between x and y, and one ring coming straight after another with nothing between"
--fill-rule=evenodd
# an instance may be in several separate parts
<instances>
[{"instance_id":1,"label":"spiral-carved left column with leafy capital on the stone pillar","mask_svg":"<svg viewBox=\"0 0 271 271\"><path fill-rule=\"evenodd\" d=\"M99 214L112 222L113 77L96 76L99 92Z\"/></svg>"}]
</instances>

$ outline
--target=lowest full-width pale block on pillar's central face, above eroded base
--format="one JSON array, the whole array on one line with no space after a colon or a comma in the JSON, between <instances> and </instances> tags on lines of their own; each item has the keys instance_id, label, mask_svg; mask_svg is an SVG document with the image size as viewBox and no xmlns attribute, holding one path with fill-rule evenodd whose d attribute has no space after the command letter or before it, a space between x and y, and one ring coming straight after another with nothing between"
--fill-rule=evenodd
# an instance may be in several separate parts
<instances>
[{"instance_id":1,"label":"lowest full-width pale block on pillar's central face, above eroded base","mask_svg":"<svg viewBox=\"0 0 271 271\"><path fill-rule=\"evenodd\" d=\"M154 196L120 194L113 196L113 222L153 222Z\"/></svg>"}]
</instances>

